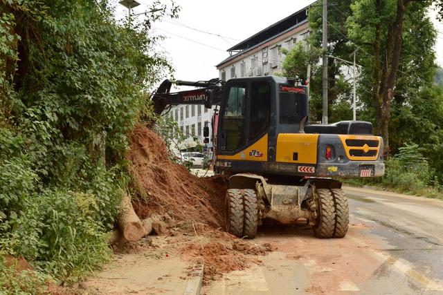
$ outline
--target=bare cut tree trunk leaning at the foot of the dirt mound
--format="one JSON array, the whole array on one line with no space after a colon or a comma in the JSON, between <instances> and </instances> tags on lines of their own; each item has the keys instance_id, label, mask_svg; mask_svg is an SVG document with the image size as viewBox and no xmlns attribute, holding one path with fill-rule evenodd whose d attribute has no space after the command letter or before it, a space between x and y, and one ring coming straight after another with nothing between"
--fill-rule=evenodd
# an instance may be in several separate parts
<instances>
[{"instance_id":1,"label":"bare cut tree trunk leaning at the foot of the dirt mound","mask_svg":"<svg viewBox=\"0 0 443 295\"><path fill-rule=\"evenodd\" d=\"M118 215L118 225L126 240L140 240L146 234L143 222L138 218L132 207L131 196L124 193L120 205L120 214Z\"/></svg>"}]
</instances>

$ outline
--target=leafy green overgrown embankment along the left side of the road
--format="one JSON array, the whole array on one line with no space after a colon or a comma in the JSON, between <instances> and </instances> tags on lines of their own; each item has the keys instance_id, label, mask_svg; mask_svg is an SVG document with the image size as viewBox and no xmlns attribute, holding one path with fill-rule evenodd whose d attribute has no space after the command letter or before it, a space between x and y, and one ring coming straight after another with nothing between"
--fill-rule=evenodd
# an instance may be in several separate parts
<instances>
[{"instance_id":1,"label":"leafy green overgrown embankment along the left side of the road","mask_svg":"<svg viewBox=\"0 0 443 295\"><path fill-rule=\"evenodd\" d=\"M0 3L2 274L6 254L62 280L109 258L105 234L130 181L127 134L171 69L150 25L177 7L129 27L99 2ZM0 280L0 293L11 286Z\"/></svg>"}]
</instances>

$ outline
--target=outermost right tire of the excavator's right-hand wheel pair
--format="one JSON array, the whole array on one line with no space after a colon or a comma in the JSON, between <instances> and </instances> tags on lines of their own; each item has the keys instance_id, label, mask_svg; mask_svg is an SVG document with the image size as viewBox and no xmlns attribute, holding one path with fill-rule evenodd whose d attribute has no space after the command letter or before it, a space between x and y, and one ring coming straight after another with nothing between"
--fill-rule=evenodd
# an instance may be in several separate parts
<instances>
[{"instance_id":1,"label":"outermost right tire of the excavator's right-hand wheel pair","mask_svg":"<svg viewBox=\"0 0 443 295\"><path fill-rule=\"evenodd\" d=\"M343 238L346 236L349 226L349 206L343 189L331 189L332 198L334 198L335 207L335 227L334 238Z\"/></svg>"}]
</instances>

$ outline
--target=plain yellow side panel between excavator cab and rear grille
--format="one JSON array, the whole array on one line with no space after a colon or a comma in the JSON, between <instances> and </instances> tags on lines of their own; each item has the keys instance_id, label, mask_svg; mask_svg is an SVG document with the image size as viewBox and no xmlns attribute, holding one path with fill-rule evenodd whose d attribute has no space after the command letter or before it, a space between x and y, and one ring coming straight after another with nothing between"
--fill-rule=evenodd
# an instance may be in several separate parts
<instances>
[{"instance_id":1,"label":"plain yellow side panel between excavator cab and rear grille","mask_svg":"<svg viewBox=\"0 0 443 295\"><path fill-rule=\"evenodd\" d=\"M277 137L277 162L286 163L317 163L318 134L280 133ZM293 160L293 153L298 153Z\"/></svg>"}]
</instances>

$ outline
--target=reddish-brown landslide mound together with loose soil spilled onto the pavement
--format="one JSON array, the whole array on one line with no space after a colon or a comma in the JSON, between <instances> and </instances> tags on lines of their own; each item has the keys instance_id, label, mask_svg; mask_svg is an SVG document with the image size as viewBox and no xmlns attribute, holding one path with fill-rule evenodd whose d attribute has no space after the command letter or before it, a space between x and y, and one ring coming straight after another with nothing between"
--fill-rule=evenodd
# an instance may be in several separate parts
<instances>
[{"instance_id":1,"label":"reddish-brown landslide mound together with loose soil spilled onto the pavement","mask_svg":"<svg viewBox=\"0 0 443 295\"><path fill-rule=\"evenodd\" d=\"M224 198L227 181L221 176L199 178L171 162L159 135L145 126L134 129L127 156L136 192L132 205L139 218L152 220L156 236L114 245L117 253L145 252L158 259L180 255L204 263L204 283L222 274L260 264L257 256L272 251L226 233Z\"/></svg>"}]
</instances>

